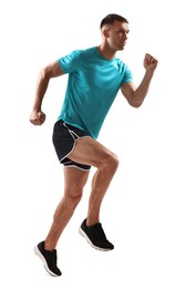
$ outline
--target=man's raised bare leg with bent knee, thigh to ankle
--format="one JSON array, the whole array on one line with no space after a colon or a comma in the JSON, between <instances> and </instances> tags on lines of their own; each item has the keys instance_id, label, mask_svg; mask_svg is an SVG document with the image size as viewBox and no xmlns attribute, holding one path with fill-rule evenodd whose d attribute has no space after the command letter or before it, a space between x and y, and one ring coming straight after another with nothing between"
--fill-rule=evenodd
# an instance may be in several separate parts
<instances>
[{"instance_id":1,"label":"man's raised bare leg with bent knee, thigh to ankle","mask_svg":"<svg viewBox=\"0 0 186 288\"><path fill-rule=\"evenodd\" d=\"M86 217L86 225L91 226L100 222L101 204L117 169L118 160L114 153L92 137L78 140L70 157L75 162L97 168L92 181L92 192Z\"/></svg>"}]
</instances>

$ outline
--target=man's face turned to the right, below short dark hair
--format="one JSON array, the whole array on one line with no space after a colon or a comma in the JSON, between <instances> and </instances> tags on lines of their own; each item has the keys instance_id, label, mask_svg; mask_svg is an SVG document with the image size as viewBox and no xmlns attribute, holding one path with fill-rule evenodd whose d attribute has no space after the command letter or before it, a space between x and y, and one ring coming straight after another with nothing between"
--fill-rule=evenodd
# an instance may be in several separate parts
<instances>
[{"instance_id":1,"label":"man's face turned to the right, below short dark hair","mask_svg":"<svg viewBox=\"0 0 186 288\"><path fill-rule=\"evenodd\" d=\"M114 24L110 25L106 30L107 42L111 49L115 51L123 50L126 44L127 33L130 32L128 24L121 21L114 21Z\"/></svg>"}]
</instances>

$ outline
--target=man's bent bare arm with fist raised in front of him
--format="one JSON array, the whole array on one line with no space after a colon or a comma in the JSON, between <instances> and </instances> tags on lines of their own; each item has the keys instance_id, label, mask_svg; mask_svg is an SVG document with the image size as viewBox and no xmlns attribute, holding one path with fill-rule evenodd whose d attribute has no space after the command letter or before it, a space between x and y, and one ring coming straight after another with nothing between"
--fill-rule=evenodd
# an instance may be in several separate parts
<instances>
[{"instance_id":1,"label":"man's bent bare arm with fist raised in front of him","mask_svg":"<svg viewBox=\"0 0 186 288\"><path fill-rule=\"evenodd\" d=\"M149 84L154 74L154 71L157 66L157 59L151 54L145 54L144 68L146 70L145 75L138 85L135 86L133 82L124 83L121 88L122 94L126 97L130 105L133 107L140 107L148 92Z\"/></svg>"}]
</instances>

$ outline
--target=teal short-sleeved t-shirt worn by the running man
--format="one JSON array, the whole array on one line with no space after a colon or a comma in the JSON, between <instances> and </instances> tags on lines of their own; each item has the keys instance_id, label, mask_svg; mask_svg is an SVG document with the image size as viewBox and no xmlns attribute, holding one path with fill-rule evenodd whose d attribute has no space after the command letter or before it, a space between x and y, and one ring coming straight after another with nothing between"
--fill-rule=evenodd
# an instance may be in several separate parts
<instances>
[{"instance_id":1,"label":"teal short-sleeved t-shirt worn by the running man","mask_svg":"<svg viewBox=\"0 0 186 288\"><path fill-rule=\"evenodd\" d=\"M104 59L97 47L75 50L58 62L69 73L59 119L97 138L121 85L132 82L132 72L118 58Z\"/></svg>"}]
</instances>

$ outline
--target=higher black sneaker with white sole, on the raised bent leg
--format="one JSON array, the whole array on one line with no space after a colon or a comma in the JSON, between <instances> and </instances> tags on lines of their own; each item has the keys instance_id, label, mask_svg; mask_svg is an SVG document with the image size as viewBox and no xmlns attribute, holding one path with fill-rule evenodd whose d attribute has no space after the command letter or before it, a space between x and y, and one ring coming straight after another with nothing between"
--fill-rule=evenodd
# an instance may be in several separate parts
<instances>
[{"instance_id":1,"label":"higher black sneaker with white sole, on the raised bent leg","mask_svg":"<svg viewBox=\"0 0 186 288\"><path fill-rule=\"evenodd\" d=\"M114 245L106 239L101 223L96 223L92 226L86 226L86 219L79 228L80 234L86 238L87 243L95 249L102 251L108 251L114 249Z\"/></svg>"}]
</instances>

